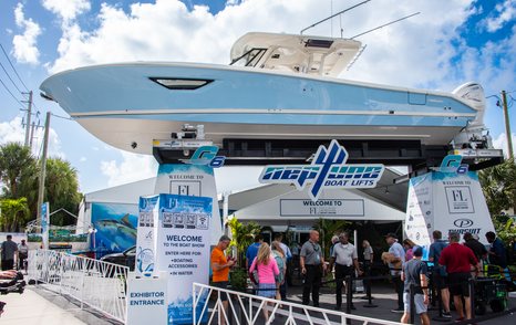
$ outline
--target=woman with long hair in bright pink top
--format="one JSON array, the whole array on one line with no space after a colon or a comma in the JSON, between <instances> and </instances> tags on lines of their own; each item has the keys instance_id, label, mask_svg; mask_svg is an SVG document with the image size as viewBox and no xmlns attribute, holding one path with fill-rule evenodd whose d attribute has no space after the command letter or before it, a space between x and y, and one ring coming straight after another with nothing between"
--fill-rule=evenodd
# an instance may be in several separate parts
<instances>
[{"instance_id":1,"label":"woman with long hair in bright pink top","mask_svg":"<svg viewBox=\"0 0 516 325\"><path fill-rule=\"evenodd\" d=\"M276 297L276 276L279 274L279 269L268 243L260 245L258 254L249 268L249 276L251 279L254 279L252 272L255 270L258 271L258 295L268 298ZM267 303L267 305L269 304ZM262 308L266 323L269 321L267 305Z\"/></svg>"}]
</instances>

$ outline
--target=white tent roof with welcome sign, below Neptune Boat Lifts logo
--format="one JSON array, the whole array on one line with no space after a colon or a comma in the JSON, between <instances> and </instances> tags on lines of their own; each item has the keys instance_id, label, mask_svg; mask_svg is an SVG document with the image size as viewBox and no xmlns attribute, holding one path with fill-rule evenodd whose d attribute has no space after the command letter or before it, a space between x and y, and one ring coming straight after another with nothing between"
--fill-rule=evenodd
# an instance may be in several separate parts
<instances>
[{"instance_id":1,"label":"white tent roof with welcome sign, below Neptune Boat Lifts logo","mask_svg":"<svg viewBox=\"0 0 516 325\"><path fill-rule=\"evenodd\" d=\"M238 220L278 221L328 218L357 221L402 221L405 219L405 212L360 190L327 189L316 202L309 198L308 188L298 191L295 187L287 186L287 191L285 191L286 186L274 185L258 190L272 197L236 211L234 216ZM274 196L278 191L283 191L283 193Z\"/></svg>"}]
</instances>

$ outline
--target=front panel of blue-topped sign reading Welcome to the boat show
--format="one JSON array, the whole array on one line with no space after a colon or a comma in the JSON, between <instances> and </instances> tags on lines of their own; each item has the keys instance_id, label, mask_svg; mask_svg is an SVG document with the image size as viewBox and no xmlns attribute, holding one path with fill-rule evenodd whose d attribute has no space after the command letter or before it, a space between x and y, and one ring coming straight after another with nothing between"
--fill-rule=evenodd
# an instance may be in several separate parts
<instances>
[{"instance_id":1,"label":"front panel of blue-topped sign reading Welcome to the boat show","mask_svg":"<svg viewBox=\"0 0 516 325\"><path fill-rule=\"evenodd\" d=\"M213 199L159 195L158 206L157 269L168 272L168 324L192 324L192 285L208 282Z\"/></svg>"}]
</instances>

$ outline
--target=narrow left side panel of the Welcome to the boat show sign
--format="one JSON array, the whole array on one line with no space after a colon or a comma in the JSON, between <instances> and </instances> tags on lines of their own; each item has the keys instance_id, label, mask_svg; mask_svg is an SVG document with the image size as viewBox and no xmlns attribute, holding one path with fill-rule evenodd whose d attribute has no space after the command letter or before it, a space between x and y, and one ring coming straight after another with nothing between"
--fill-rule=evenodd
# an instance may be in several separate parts
<instances>
[{"instance_id":1,"label":"narrow left side panel of the Welcome to the boat show sign","mask_svg":"<svg viewBox=\"0 0 516 325\"><path fill-rule=\"evenodd\" d=\"M137 276L149 277L154 275L158 229L158 199L159 196L140 198L135 259L136 265L134 268Z\"/></svg>"}]
</instances>

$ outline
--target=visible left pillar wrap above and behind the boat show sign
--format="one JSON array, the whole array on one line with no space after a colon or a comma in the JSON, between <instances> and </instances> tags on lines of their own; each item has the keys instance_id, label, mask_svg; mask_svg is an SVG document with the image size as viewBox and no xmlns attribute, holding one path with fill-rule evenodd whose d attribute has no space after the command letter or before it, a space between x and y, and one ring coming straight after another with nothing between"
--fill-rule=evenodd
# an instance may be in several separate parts
<instances>
[{"instance_id":1,"label":"visible left pillar wrap above and behind the boat show sign","mask_svg":"<svg viewBox=\"0 0 516 325\"><path fill-rule=\"evenodd\" d=\"M178 196L208 197L218 202L214 170L207 165L164 164L159 165L154 192ZM211 244L217 244L223 234L218 205L211 207Z\"/></svg>"}]
</instances>

